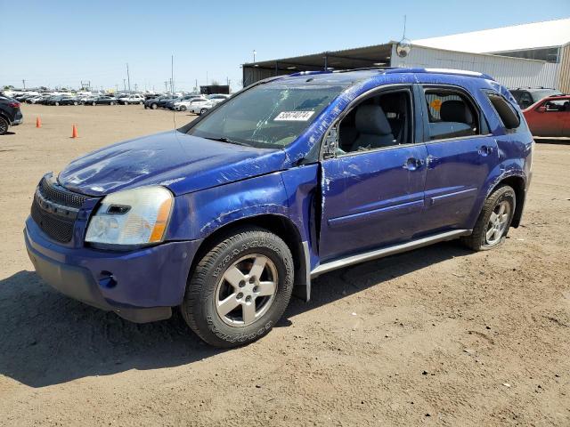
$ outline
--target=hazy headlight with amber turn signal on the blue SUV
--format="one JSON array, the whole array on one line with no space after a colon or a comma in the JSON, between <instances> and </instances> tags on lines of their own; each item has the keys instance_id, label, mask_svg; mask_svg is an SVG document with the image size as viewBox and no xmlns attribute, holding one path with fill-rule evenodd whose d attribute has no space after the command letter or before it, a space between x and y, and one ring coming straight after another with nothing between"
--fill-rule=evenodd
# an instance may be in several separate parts
<instances>
[{"instance_id":1,"label":"hazy headlight with amber turn signal on the blue SUV","mask_svg":"<svg viewBox=\"0 0 570 427\"><path fill-rule=\"evenodd\" d=\"M164 187L126 189L105 196L91 218L86 242L145 245L161 242L174 197Z\"/></svg>"}]
</instances>

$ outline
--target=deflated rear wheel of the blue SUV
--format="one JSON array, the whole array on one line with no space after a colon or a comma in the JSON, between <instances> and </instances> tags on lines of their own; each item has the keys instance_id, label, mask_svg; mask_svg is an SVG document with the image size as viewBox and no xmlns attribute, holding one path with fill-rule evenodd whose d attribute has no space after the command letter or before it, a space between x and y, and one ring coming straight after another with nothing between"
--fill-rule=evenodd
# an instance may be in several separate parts
<instances>
[{"instance_id":1,"label":"deflated rear wheel of the blue SUV","mask_svg":"<svg viewBox=\"0 0 570 427\"><path fill-rule=\"evenodd\" d=\"M470 236L461 238L474 251L486 251L501 245L509 233L515 214L517 196L509 185L495 189L485 200L481 214Z\"/></svg>"}]
</instances>

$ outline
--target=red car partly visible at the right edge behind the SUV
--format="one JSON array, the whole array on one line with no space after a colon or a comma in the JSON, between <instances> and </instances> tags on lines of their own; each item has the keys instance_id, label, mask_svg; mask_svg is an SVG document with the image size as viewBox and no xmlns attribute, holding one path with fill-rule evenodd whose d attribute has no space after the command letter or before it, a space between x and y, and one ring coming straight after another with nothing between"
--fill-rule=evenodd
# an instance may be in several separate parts
<instances>
[{"instance_id":1,"label":"red car partly visible at the right edge behind the SUV","mask_svg":"<svg viewBox=\"0 0 570 427\"><path fill-rule=\"evenodd\" d=\"M570 137L570 95L544 98L523 114L534 136Z\"/></svg>"}]
</instances>

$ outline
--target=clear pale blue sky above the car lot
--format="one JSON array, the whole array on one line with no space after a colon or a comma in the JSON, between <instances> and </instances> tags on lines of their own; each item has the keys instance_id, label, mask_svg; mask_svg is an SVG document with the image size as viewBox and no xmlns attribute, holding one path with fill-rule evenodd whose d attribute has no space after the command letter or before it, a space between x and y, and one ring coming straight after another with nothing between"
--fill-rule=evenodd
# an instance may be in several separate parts
<instances>
[{"instance_id":1,"label":"clear pale blue sky above the car lot","mask_svg":"<svg viewBox=\"0 0 570 427\"><path fill-rule=\"evenodd\" d=\"M191 90L240 64L400 39L444 36L570 16L570 0L107 1L0 0L0 85Z\"/></svg>"}]
</instances>

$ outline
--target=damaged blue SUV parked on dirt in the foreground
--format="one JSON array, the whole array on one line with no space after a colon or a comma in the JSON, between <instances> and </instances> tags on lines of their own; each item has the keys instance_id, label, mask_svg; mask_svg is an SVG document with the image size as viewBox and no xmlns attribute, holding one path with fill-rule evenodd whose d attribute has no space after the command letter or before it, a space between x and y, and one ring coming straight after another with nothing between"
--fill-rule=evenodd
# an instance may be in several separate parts
<instances>
[{"instance_id":1,"label":"damaged blue SUV parked on dirt in the foreground","mask_svg":"<svg viewBox=\"0 0 570 427\"><path fill-rule=\"evenodd\" d=\"M252 342L327 271L521 221L533 137L479 73L304 72L39 182L25 228L45 282L119 316Z\"/></svg>"}]
</instances>

